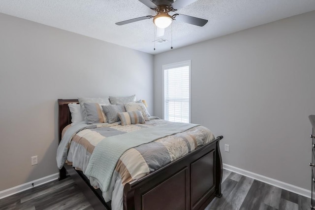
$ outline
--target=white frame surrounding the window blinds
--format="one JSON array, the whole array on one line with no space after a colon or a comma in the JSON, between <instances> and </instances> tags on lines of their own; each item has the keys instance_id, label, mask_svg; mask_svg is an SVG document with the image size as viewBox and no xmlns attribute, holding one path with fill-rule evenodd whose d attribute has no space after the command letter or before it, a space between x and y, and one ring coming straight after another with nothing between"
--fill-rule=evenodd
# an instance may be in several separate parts
<instances>
[{"instance_id":1,"label":"white frame surrounding the window blinds","mask_svg":"<svg viewBox=\"0 0 315 210\"><path fill-rule=\"evenodd\" d=\"M164 71L179 67L189 67L189 123L191 122L191 60L162 65L162 97L163 97L163 118L165 119L165 98L164 98Z\"/></svg>"}]
</instances>

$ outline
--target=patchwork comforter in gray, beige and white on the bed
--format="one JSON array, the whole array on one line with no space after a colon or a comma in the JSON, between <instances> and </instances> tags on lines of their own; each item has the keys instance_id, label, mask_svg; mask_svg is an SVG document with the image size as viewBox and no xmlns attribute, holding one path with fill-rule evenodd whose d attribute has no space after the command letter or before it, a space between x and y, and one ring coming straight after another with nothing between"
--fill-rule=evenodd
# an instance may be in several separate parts
<instances>
[{"instance_id":1,"label":"patchwork comforter in gray, beige and white on the bed","mask_svg":"<svg viewBox=\"0 0 315 210\"><path fill-rule=\"evenodd\" d=\"M197 147L215 140L214 135L209 129L199 125L192 125L180 133L172 135L161 134L161 138L153 138L152 141L149 140L151 142L126 149L118 159L114 167L114 172L109 176L108 184L100 181L99 177L95 177L95 172L93 172L95 167L93 168L91 165L97 166L97 164L104 162L104 160L98 161L98 163L96 161L97 164L92 163L95 161L95 156L99 156L95 155L94 152L96 153L101 148L100 145L102 147L106 145L106 139L119 141L119 138L110 137L122 135L121 137L125 138L130 136L130 140L132 140L132 136L136 137L142 131L144 135L148 136L150 132L146 131L152 131L155 127L157 129L162 127L171 128L177 127L177 125L173 122L153 119L145 124L126 126L120 125L119 122L113 124L79 124L71 126L63 132L63 140L58 147L58 167L62 168L66 162L77 170L81 170L90 179L91 184L95 188L101 189L105 201L112 201L112 210L123 210L123 189L127 182L139 179L188 154ZM135 133L137 135L134 135ZM157 133L160 133L160 131L158 130ZM106 149L111 151L111 148ZM111 160L108 161L110 162ZM96 168L102 169L101 171L97 171L96 174L106 174L105 167Z\"/></svg>"}]
</instances>

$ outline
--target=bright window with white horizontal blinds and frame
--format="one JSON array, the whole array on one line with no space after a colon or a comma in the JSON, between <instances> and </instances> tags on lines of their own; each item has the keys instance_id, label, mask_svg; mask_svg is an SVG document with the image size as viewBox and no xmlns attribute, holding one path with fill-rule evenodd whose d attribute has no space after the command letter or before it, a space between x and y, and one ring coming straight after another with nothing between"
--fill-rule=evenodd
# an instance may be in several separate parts
<instances>
[{"instance_id":1,"label":"bright window with white horizontal blinds and frame","mask_svg":"<svg viewBox=\"0 0 315 210\"><path fill-rule=\"evenodd\" d=\"M163 65L164 119L190 122L190 60Z\"/></svg>"}]
</instances>

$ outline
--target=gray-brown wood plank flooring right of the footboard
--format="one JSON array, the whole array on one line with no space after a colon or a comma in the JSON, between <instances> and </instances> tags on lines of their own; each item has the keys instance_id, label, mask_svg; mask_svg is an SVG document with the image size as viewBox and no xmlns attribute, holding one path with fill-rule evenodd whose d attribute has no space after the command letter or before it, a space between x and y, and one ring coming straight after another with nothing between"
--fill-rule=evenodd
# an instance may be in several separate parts
<instances>
[{"instance_id":1,"label":"gray-brown wood plank flooring right of the footboard","mask_svg":"<svg viewBox=\"0 0 315 210\"><path fill-rule=\"evenodd\" d=\"M223 170L222 197L205 210L310 210L311 199Z\"/></svg>"}]
</instances>

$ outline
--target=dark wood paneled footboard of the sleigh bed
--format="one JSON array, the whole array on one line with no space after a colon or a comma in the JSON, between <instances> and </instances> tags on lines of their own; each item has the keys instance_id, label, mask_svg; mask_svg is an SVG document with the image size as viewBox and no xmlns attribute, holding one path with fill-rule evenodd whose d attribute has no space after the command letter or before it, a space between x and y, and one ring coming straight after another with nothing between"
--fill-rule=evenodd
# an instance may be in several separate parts
<instances>
[{"instance_id":1,"label":"dark wood paneled footboard of the sleigh bed","mask_svg":"<svg viewBox=\"0 0 315 210\"><path fill-rule=\"evenodd\" d=\"M222 162L218 137L183 158L129 182L124 210L203 210L221 196Z\"/></svg>"}]
</instances>

